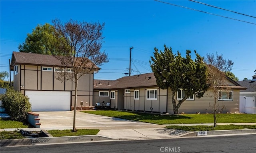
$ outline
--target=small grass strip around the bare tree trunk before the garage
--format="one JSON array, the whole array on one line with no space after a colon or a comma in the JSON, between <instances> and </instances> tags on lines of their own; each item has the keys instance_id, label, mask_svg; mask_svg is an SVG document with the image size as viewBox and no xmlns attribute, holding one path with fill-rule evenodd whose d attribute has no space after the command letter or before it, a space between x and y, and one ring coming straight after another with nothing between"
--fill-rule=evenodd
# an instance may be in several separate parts
<instances>
[{"instance_id":1,"label":"small grass strip around the bare tree trunk before the garage","mask_svg":"<svg viewBox=\"0 0 256 153\"><path fill-rule=\"evenodd\" d=\"M49 130L48 132L54 137L64 137L64 136L78 136L78 135L96 135L99 129L77 129L76 132L72 132L71 129L65 130Z\"/></svg>"}]
</instances>

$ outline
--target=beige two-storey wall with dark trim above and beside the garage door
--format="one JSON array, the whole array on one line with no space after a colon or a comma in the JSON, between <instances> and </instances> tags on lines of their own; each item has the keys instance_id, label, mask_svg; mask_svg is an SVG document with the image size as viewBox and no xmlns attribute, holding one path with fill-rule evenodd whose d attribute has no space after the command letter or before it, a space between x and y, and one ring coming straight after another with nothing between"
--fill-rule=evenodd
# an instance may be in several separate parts
<instances>
[{"instance_id":1,"label":"beige two-storey wall with dark trim above and beside the garage door","mask_svg":"<svg viewBox=\"0 0 256 153\"><path fill-rule=\"evenodd\" d=\"M42 71L41 66L19 65L18 74L14 75L14 89L22 94L26 90L72 91L70 105L74 106L74 82L61 82L56 76L53 67L52 71ZM78 80L77 106L80 106L80 101L84 102L83 106L93 106L93 74L83 75Z\"/></svg>"}]
</instances>

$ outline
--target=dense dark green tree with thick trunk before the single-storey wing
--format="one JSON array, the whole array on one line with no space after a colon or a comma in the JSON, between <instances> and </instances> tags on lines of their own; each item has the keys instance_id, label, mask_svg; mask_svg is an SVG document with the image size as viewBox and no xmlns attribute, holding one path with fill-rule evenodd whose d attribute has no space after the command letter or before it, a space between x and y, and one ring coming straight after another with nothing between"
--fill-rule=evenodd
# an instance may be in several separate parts
<instances>
[{"instance_id":1,"label":"dense dark green tree with thick trunk before the single-storey wing","mask_svg":"<svg viewBox=\"0 0 256 153\"><path fill-rule=\"evenodd\" d=\"M180 52L177 55L164 45L164 51L158 52L155 48L154 57L151 57L150 66L156 77L156 83L161 89L170 88L172 90L172 106L174 114L179 114L179 108L190 95L195 94L200 98L208 89L207 67L203 58L196 53L196 59L193 61L190 56L191 51L186 51L186 58L182 57ZM175 93L182 88L185 96L178 100L176 104Z\"/></svg>"}]
</instances>

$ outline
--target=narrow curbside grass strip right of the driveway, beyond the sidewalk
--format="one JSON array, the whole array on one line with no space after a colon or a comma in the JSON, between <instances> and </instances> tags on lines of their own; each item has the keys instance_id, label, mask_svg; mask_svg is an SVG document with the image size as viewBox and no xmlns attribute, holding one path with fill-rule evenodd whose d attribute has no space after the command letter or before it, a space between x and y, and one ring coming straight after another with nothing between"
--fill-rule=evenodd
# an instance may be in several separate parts
<instances>
[{"instance_id":1,"label":"narrow curbside grass strip right of the driveway, beyond the sidewalk","mask_svg":"<svg viewBox=\"0 0 256 153\"><path fill-rule=\"evenodd\" d=\"M256 125L217 125L213 126L166 126L167 129L180 129L184 131L214 131L214 130L230 130L230 129L256 129Z\"/></svg>"}]
</instances>

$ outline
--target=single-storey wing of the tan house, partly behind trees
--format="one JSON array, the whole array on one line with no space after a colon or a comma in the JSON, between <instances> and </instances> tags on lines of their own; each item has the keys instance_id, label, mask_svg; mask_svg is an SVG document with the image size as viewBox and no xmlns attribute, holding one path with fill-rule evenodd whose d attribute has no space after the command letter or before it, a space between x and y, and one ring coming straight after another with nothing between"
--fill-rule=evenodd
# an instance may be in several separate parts
<instances>
[{"instance_id":1,"label":"single-storey wing of the tan house, partly behind trees","mask_svg":"<svg viewBox=\"0 0 256 153\"><path fill-rule=\"evenodd\" d=\"M225 105L223 112L239 112L239 92L246 88L226 78L229 90L222 91L218 104ZM226 96L225 96L226 95ZM182 89L175 95L176 100L184 96ZM94 80L93 104L110 102L117 110L167 112L173 114L171 90L160 89L153 73L122 77L117 80ZM212 93L207 91L202 98L191 95L180 106L179 112L211 113L209 104L214 104Z\"/></svg>"}]
</instances>

